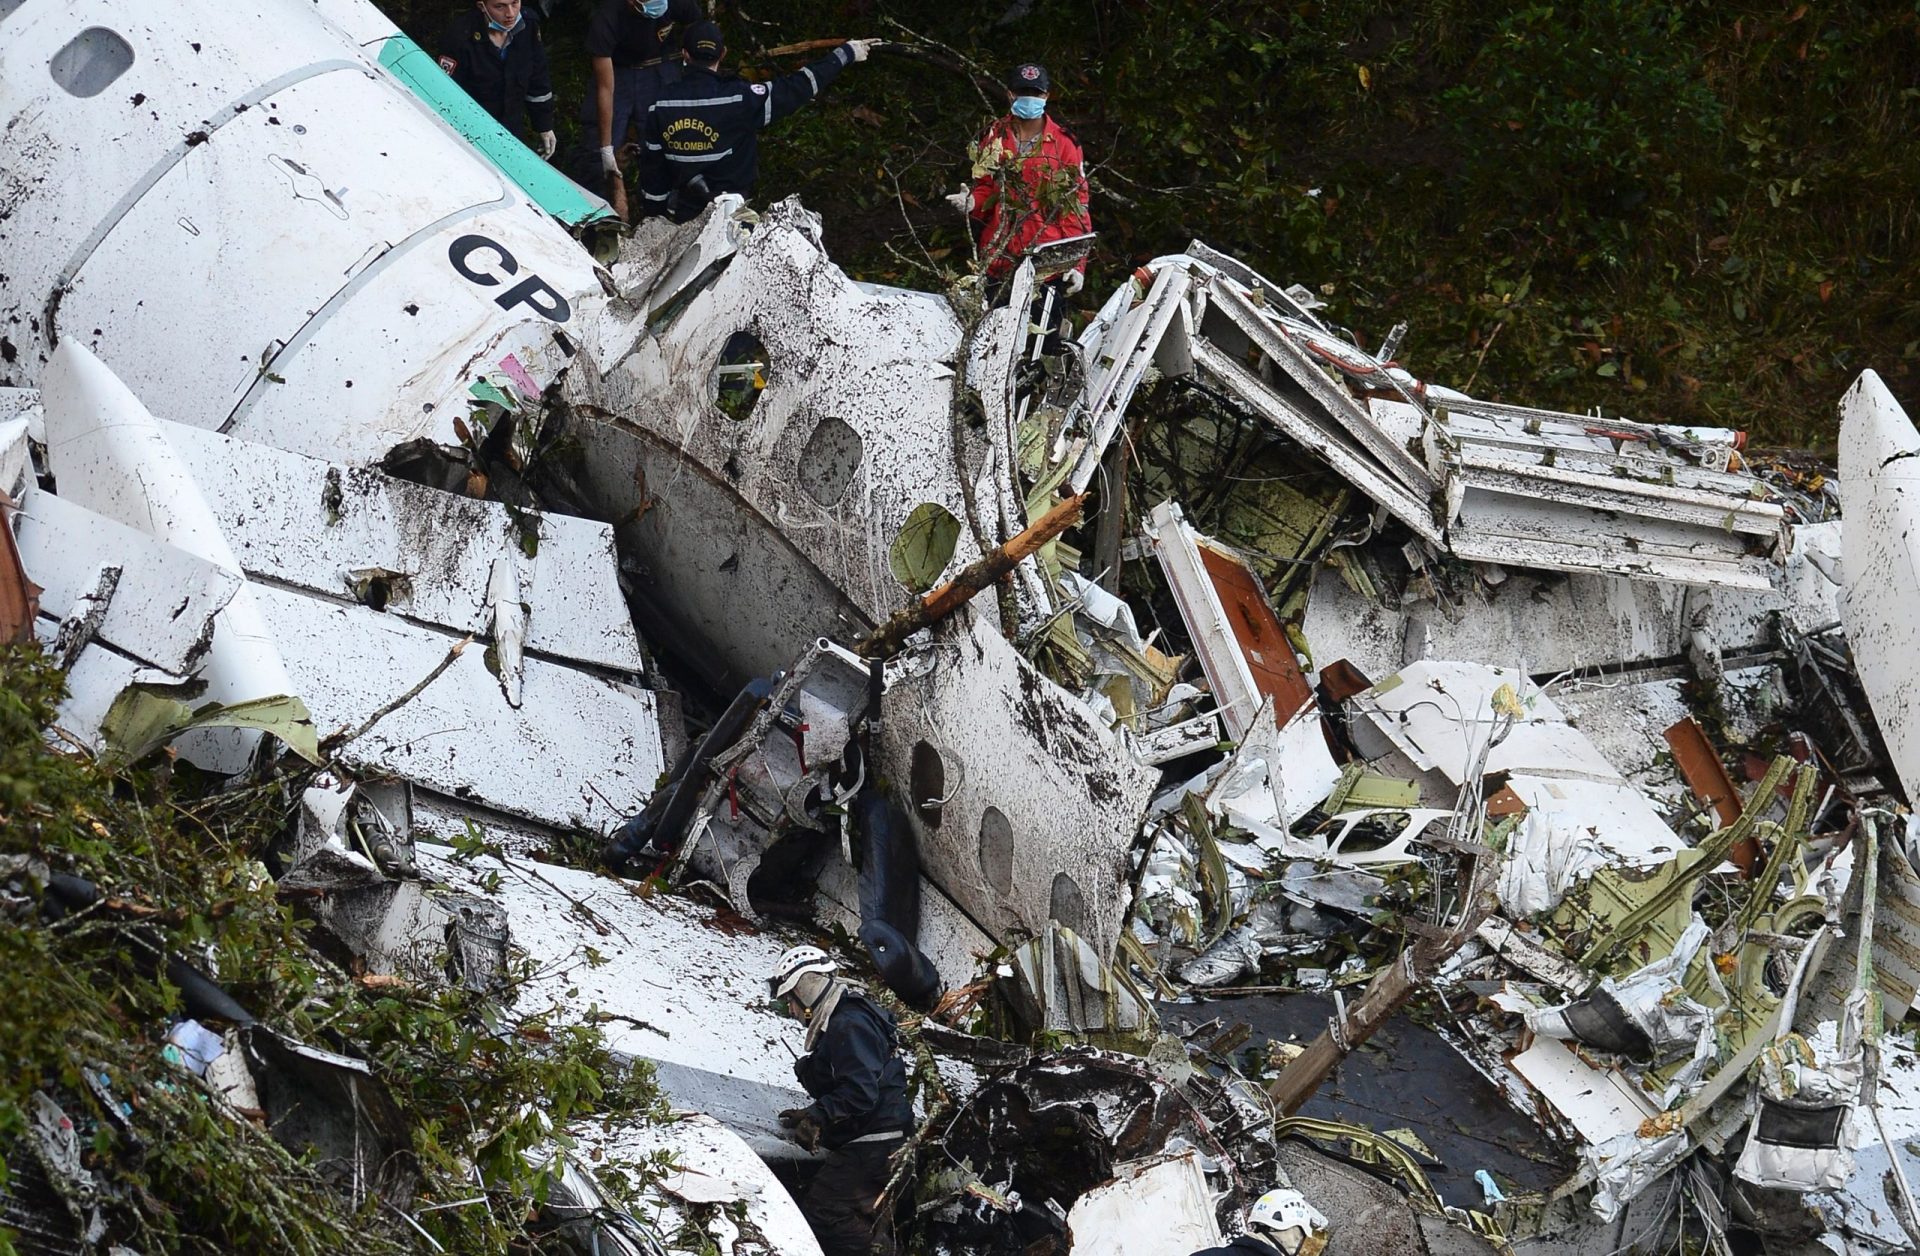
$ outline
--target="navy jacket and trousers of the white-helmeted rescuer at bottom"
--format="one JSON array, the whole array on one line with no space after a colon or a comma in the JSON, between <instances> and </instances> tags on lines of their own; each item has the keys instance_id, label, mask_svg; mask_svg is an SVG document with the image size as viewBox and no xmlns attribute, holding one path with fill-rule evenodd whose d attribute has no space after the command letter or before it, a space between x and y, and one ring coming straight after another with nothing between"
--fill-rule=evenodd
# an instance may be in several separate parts
<instances>
[{"instance_id":1,"label":"navy jacket and trousers of the white-helmeted rescuer at bottom","mask_svg":"<svg viewBox=\"0 0 1920 1256\"><path fill-rule=\"evenodd\" d=\"M820 1141L831 1150L801 1200L826 1256L895 1252L891 1218L877 1202L889 1160L914 1127L914 1108L893 1045L893 1018L847 991L814 1049L793 1062L793 1075L814 1097L808 1112L820 1122Z\"/></svg>"}]
</instances>

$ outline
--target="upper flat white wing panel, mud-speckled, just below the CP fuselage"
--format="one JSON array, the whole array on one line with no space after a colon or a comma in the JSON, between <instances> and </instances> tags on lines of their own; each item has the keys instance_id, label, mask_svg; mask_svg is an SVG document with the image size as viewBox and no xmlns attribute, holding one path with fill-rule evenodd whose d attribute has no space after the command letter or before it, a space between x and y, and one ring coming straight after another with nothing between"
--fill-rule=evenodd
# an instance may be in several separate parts
<instances>
[{"instance_id":1,"label":"upper flat white wing panel, mud-speckled, just below the CP fuselage","mask_svg":"<svg viewBox=\"0 0 1920 1256\"><path fill-rule=\"evenodd\" d=\"M507 559L526 649L614 672L643 666L612 528L513 511L367 467L161 424L253 578L353 597L422 624L493 636L486 590Z\"/></svg>"}]
</instances>

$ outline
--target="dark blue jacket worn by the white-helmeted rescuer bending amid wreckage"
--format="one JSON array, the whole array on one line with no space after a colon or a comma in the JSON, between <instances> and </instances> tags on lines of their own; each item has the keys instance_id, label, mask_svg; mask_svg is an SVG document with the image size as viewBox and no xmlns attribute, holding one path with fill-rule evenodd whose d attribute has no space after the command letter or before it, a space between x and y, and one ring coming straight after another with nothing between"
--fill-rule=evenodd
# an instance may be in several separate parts
<instances>
[{"instance_id":1,"label":"dark blue jacket worn by the white-helmeted rescuer bending amid wreckage","mask_svg":"<svg viewBox=\"0 0 1920 1256\"><path fill-rule=\"evenodd\" d=\"M829 1150L870 1133L914 1127L895 1039L893 1016L849 989L814 1049L793 1062L793 1075L814 1097L808 1112Z\"/></svg>"}]
</instances>

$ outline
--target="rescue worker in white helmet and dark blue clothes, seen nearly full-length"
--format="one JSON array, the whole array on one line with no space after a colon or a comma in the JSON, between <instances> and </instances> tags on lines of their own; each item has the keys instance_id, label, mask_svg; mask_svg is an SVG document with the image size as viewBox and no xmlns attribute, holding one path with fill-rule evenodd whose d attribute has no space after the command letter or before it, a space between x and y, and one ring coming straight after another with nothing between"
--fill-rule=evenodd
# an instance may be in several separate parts
<instances>
[{"instance_id":1,"label":"rescue worker in white helmet and dark blue clothes, seen nearly full-length","mask_svg":"<svg viewBox=\"0 0 1920 1256\"><path fill-rule=\"evenodd\" d=\"M826 1256L893 1256L893 1218L879 1214L887 1162L914 1125L893 1016L833 976L818 947L780 956L766 989L806 1024L793 1075L812 1097L780 1123L806 1150L828 1148L801 1212Z\"/></svg>"}]
</instances>

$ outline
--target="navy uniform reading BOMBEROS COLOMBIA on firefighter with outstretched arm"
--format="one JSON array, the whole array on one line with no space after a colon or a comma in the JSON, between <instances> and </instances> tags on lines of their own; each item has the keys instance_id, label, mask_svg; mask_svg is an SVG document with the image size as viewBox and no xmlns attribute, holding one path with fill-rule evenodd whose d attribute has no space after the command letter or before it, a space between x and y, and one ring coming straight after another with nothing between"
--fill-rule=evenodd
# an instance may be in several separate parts
<instances>
[{"instance_id":1,"label":"navy uniform reading BOMBEROS COLOMBIA on firefighter with outstretched arm","mask_svg":"<svg viewBox=\"0 0 1920 1256\"><path fill-rule=\"evenodd\" d=\"M687 67L680 83L647 109L639 167L645 211L662 213L666 198L693 177L707 181L710 196L753 196L760 177L760 131L824 92L849 65L852 48L841 44L806 69L772 83Z\"/></svg>"}]
</instances>

